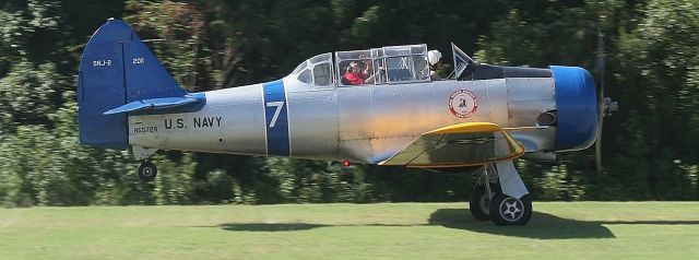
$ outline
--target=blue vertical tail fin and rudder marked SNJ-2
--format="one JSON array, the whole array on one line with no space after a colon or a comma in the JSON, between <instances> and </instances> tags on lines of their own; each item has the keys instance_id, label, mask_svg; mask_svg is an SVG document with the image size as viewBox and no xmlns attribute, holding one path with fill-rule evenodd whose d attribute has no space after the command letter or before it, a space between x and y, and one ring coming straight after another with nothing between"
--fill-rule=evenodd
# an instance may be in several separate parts
<instances>
[{"instance_id":1,"label":"blue vertical tail fin and rudder marked SNJ-2","mask_svg":"<svg viewBox=\"0 0 699 260\"><path fill-rule=\"evenodd\" d=\"M197 97L201 99L201 96ZM194 97L177 84L129 25L110 19L90 38L80 62L80 142L127 149L127 113L156 107L161 101L168 101L168 104L197 102L180 101L191 98ZM115 108L120 107L127 108L115 113Z\"/></svg>"}]
</instances>

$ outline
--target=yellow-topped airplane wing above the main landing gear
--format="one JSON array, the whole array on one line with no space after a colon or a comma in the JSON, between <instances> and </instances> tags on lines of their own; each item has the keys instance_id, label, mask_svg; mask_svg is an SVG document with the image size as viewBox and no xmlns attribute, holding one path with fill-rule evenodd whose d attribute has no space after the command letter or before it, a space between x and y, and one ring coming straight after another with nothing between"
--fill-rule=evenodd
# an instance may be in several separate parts
<instances>
[{"instance_id":1,"label":"yellow-topped airplane wing above the main landing gear","mask_svg":"<svg viewBox=\"0 0 699 260\"><path fill-rule=\"evenodd\" d=\"M464 167L511 159L523 154L523 145L498 125L466 122L423 133L379 165Z\"/></svg>"}]
</instances>

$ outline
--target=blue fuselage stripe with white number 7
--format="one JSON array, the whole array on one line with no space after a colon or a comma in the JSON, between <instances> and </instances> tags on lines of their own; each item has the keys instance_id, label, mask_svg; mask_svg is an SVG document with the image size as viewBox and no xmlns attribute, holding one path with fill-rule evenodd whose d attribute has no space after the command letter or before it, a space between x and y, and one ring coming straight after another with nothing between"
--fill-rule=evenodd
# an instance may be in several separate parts
<instances>
[{"instance_id":1,"label":"blue fuselage stripe with white number 7","mask_svg":"<svg viewBox=\"0 0 699 260\"><path fill-rule=\"evenodd\" d=\"M264 92L264 118L266 129L266 153L288 156L288 117L286 95L282 80L262 84Z\"/></svg>"}]
</instances>

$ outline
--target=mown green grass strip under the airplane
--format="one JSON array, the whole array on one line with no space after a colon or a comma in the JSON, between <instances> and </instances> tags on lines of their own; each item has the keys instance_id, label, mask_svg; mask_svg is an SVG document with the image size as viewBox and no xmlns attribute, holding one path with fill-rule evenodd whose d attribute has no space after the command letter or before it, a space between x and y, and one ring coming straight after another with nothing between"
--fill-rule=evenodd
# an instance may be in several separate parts
<instances>
[{"instance_id":1,"label":"mown green grass strip under the airplane","mask_svg":"<svg viewBox=\"0 0 699 260\"><path fill-rule=\"evenodd\" d=\"M0 259L699 259L699 202L541 202L520 227L465 208L0 210Z\"/></svg>"}]
</instances>

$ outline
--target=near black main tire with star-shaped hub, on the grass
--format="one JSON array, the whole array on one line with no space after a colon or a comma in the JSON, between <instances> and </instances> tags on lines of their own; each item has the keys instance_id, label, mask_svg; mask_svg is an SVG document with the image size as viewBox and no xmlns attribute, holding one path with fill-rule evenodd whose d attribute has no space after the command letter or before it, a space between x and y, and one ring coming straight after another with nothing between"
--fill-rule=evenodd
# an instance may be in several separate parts
<instances>
[{"instance_id":1,"label":"near black main tire with star-shaped hub, on the grass","mask_svg":"<svg viewBox=\"0 0 699 260\"><path fill-rule=\"evenodd\" d=\"M532 218L532 200L529 194L520 199L498 193L490 201L490 217L496 225L523 226Z\"/></svg>"}]
</instances>

